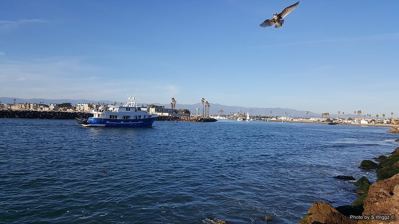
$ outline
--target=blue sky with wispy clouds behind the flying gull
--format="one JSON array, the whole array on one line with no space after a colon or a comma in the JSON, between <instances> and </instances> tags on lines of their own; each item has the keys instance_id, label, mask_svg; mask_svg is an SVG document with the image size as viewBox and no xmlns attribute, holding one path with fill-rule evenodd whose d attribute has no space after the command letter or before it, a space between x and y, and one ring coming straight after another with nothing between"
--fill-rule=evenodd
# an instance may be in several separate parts
<instances>
[{"instance_id":1,"label":"blue sky with wispy clouds behind the flying gull","mask_svg":"<svg viewBox=\"0 0 399 224\"><path fill-rule=\"evenodd\" d=\"M1 0L0 96L399 115L399 1L295 2Z\"/></svg>"}]
</instances>

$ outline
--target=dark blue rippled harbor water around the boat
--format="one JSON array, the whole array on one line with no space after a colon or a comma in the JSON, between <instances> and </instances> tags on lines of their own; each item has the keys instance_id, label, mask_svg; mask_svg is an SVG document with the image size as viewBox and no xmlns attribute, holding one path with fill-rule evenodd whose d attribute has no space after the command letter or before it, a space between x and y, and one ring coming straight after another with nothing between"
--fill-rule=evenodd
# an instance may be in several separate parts
<instances>
[{"instance_id":1,"label":"dark blue rippled harbor water around the boat","mask_svg":"<svg viewBox=\"0 0 399 224\"><path fill-rule=\"evenodd\" d=\"M333 176L375 181L357 167L399 146L388 129L2 118L0 223L297 223L315 201L357 199L353 183Z\"/></svg>"}]
</instances>

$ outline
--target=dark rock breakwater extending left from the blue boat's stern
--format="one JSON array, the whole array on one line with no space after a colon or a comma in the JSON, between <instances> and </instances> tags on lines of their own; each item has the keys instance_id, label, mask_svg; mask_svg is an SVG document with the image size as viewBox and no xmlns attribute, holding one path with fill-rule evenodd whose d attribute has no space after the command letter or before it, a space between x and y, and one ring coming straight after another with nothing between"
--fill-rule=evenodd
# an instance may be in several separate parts
<instances>
[{"instance_id":1,"label":"dark rock breakwater extending left from the blue boat's stern","mask_svg":"<svg viewBox=\"0 0 399 224\"><path fill-rule=\"evenodd\" d=\"M75 117L87 118L91 116L87 112L61 112L61 111L14 111L1 110L2 118L33 118L33 119L75 119Z\"/></svg>"}]
</instances>

